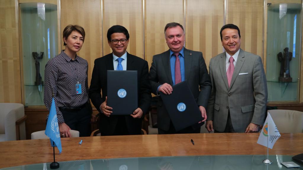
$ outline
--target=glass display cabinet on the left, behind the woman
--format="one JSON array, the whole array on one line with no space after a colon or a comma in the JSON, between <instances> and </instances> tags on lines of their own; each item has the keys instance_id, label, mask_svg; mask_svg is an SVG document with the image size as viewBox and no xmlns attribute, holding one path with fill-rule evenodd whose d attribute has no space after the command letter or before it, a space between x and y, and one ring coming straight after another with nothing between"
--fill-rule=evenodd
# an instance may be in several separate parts
<instances>
[{"instance_id":1,"label":"glass display cabinet on the left, behind the woman","mask_svg":"<svg viewBox=\"0 0 303 170\"><path fill-rule=\"evenodd\" d=\"M20 3L25 106L44 105L45 64L58 53L57 5Z\"/></svg>"}]
</instances>

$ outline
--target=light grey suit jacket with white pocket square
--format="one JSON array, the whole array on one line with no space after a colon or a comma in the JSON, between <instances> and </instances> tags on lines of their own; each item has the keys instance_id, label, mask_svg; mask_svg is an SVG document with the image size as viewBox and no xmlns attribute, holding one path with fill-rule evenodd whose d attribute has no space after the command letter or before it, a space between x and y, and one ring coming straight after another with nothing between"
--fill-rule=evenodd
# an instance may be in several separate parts
<instances>
[{"instance_id":1,"label":"light grey suit jacket with white pocket square","mask_svg":"<svg viewBox=\"0 0 303 170\"><path fill-rule=\"evenodd\" d=\"M266 114L267 84L262 60L240 49L228 88L225 58L224 52L209 63L212 90L207 120L213 120L214 129L223 132L229 110L235 132L245 132L249 123L262 125Z\"/></svg>"}]
</instances>

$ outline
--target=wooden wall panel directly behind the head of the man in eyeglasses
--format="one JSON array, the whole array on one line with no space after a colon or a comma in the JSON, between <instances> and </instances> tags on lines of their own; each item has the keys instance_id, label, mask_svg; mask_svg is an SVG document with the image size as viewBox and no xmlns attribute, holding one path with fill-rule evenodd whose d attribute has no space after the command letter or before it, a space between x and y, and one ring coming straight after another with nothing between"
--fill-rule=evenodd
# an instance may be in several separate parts
<instances>
[{"instance_id":1,"label":"wooden wall panel directly behind the head of the man in eyeglasses","mask_svg":"<svg viewBox=\"0 0 303 170\"><path fill-rule=\"evenodd\" d=\"M129 33L127 52L144 58L142 0L104 0L103 10L103 55L112 52L106 36L108 29L122 25Z\"/></svg>"}]
</instances>

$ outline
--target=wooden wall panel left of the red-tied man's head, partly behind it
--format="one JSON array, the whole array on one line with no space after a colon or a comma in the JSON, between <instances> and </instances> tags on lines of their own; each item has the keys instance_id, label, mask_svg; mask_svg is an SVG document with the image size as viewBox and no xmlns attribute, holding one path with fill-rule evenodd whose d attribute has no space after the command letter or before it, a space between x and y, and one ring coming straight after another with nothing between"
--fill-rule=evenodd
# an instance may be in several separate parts
<instances>
[{"instance_id":1,"label":"wooden wall panel left of the red-tied man's head, partly behind it","mask_svg":"<svg viewBox=\"0 0 303 170\"><path fill-rule=\"evenodd\" d=\"M183 6L182 0L146 0L145 60L148 61L149 67L153 55L168 50L164 37L165 25L178 22L185 26Z\"/></svg>"}]
</instances>

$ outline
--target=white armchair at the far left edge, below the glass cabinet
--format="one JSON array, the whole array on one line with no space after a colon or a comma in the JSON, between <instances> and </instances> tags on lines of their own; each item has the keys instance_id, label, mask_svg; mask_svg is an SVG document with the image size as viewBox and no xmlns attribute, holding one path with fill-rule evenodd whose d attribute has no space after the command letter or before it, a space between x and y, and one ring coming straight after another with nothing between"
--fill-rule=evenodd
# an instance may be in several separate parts
<instances>
[{"instance_id":1,"label":"white armchair at the far left edge, below the glass cabinet","mask_svg":"<svg viewBox=\"0 0 303 170\"><path fill-rule=\"evenodd\" d=\"M20 103L0 103L0 142L26 139L24 106Z\"/></svg>"}]
</instances>

